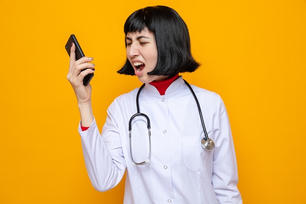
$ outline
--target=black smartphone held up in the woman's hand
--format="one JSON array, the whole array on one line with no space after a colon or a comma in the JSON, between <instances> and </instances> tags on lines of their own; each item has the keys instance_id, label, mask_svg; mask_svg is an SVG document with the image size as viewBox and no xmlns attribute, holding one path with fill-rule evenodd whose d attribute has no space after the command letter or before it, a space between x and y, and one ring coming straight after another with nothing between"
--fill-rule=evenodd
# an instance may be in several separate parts
<instances>
[{"instance_id":1,"label":"black smartphone held up in the woman's hand","mask_svg":"<svg viewBox=\"0 0 306 204\"><path fill-rule=\"evenodd\" d=\"M66 48L66 50L68 52L68 55L70 56L70 48L71 48L71 44L72 43L74 43L74 45L75 45L75 60L78 60L78 59L80 59L82 57L85 57L85 54L82 51L82 48L81 48L80 44L78 43L75 35L73 35L73 34L70 35L70 37L69 37L69 39L68 39L68 41L66 43L66 46L65 46L65 48ZM87 69L87 68L85 68L85 69ZM85 69L82 69L81 71L84 71ZM84 77L84 79L83 79L84 86L87 86L89 84L89 82L92 79L92 77L93 77L93 73L87 74Z\"/></svg>"}]
</instances>

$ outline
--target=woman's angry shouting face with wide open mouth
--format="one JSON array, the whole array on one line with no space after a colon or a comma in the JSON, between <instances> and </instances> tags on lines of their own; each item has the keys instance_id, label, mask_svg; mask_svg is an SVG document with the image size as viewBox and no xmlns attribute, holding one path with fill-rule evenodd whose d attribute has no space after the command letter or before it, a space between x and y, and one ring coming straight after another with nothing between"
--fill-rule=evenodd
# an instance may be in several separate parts
<instances>
[{"instance_id":1,"label":"woman's angry shouting face with wide open mouth","mask_svg":"<svg viewBox=\"0 0 306 204\"><path fill-rule=\"evenodd\" d=\"M157 48L153 32L147 28L141 32L129 32L126 37L127 57L135 75L142 83L160 81L167 76L148 75L157 63Z\"/></svg>"}]
</instances>

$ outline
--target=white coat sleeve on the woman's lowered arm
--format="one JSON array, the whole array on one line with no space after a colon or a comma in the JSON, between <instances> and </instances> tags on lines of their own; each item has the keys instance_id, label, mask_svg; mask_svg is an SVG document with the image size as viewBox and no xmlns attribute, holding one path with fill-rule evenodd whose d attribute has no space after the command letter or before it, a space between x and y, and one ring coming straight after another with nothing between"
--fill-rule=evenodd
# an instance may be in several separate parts
<instances>
[{"instance_id":1,"label":"white coat sleeve on the woman's lowered arm","mask_svg":"<svg viewBox=\"0 0 306 204\"><path fill-rule=\"evenodd\" d=\"M229 118L220 97L217 104L217 114L214 118L215 149L212 184L219 204L242 204L237 187L237 161Z\"/></svg>"}]
</instances>

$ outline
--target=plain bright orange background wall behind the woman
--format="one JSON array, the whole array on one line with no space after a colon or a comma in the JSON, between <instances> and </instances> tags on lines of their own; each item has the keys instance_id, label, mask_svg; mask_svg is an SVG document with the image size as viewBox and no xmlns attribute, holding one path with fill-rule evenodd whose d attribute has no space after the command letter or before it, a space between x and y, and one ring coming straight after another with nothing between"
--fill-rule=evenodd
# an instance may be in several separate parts
<instances>
[{"instance_id":1,"label":"plain bright orange background wall behind the woman","mask_svg":"<svg viewBox=\"0 0 306 204\"><path fill-rule=\"evenodd\" d=\"M101 193L87 177L64 45L73 33L95 59L101 129L112 100L140 86L116 73L123 24L158 4L188 24L202 66L185 79L226 104L244 204L306 204L305 0L0 0L1 204L122 203L124 182Z\"/></svg>"}]
</instances>

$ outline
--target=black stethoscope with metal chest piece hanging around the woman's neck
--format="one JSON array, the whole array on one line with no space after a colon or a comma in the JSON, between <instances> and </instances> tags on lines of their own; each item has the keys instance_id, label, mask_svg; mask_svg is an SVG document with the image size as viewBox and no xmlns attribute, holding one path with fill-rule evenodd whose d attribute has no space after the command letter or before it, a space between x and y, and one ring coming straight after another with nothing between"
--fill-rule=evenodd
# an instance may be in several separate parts
<instances>
[{"instance_id":1,"label":"black stethoscope with metal chest piece hanging around the woman's neck","mask_svg":"<svg viewBox=\"0 0 306 204\"><path fill-rule=\"evenodd\" d=\"M203 116L202 116L202 112L201 112L201 108L200 108L199 102L197 100L197 96L195 94L195 91L193 91L193 89L191 88L191 86L188 84L188 82L186 80L184 80L184 82L187 85L187 87L190 89L191 93L193 94L193 96L194 96L194 98L197 102L197 109L198 109L198 113L199 113L200 118L201 118L201 123L202 123L203 131L204 131L204 137L201 139L201 145L206 150L212 150L215 147L215 143L212 139L210 139L208 137L208 134L207 134L207 131L206 131L206 128L205 128L205 124L204 124L204 120L203 120ZM137 113L131 116L131 119L130 119L130 122L129 122L130 154L131 154L131 159L133 161L133 165L143 165L143 164L146 164L146 163L150 163L150 159L151 159L151 130L150 130L151 125L150 125L150 119L149 119L148 115L146 115L144 113L140 113L140 111L139 111L139 94L140 94L140 91L144 87L145 87L145 84L143 84L137 92L137 96L136 96ZM149 156L148 156L148 159L146 159L145 161L139 162L139 163L135 162L134 159L133 159L132 146L131 146L131 123L132 123L133 118L135 118L137 116L143 116L147 119L147 126L148 126L148 131L149 131L148 132L149 133Z\"/></svg>"}]
</instances>

